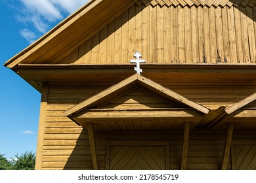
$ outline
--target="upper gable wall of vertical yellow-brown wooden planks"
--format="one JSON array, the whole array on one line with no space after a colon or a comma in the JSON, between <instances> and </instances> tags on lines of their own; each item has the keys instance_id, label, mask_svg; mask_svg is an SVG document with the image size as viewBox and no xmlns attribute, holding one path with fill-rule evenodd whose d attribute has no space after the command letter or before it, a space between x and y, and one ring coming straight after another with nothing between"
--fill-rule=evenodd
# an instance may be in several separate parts
<instances>
[{"instance_id":1,"label":"upper gable wall of vertical yellow-brown wooden planks","mask_svg":"<svg viewBox=\"0 0 256 183\"><path fill-rule=\"evenodd\" d=\"M256 5L134 5L58 63L255 63Z\"/></svg>"}]
</instances>

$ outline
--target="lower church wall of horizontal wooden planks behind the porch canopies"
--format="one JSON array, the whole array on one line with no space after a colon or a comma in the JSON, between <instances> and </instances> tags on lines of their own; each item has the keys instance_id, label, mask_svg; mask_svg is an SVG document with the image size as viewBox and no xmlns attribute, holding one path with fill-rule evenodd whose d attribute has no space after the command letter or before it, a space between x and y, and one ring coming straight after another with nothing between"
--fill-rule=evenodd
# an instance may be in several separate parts
<instances>
[{"instance_id":1,"label":"lower church wall of horizontal wooden planks behind the porch canopies","mask_svg":"<svg viewBox=\"0 0 256 183\"><path fill-rule=\"evenodd\" d=\"M217 101L221 104L233 104L240 99L255 92L255 86L246 83L236 87L207 84L167 84L172 90L186 95L192 101L200 102L211 108L218 108ZM45 137L43 141L43 155L41 169L93 169L91 161L91 150L87 130L79 127L66 116L67 110L81 101L108 88L108 86L96 85L63 85L50 84L49 97L47 100L47 116L45 123ZM190 88L188 90L188 88ZM212 90L215 88L215 90ZM220 95L217 91L223 91ZM189 91L189 93L188 93ZM200 95L200 96L199 96ZM234 97L234 96L238 97ZM207 96L207 97L206 97ZM225 131L224 131L225 132ZM254 135L255 136L255 135ZM106 139L169 139L170 141L170 169L181 168L181 152L183 142L183 131L179 133L131 133L123 136L121 133L96 133L96 152L99 169L105 166ZM236 139L256 138L253 135L238 134ZM188 145L188 169L219 169L221 165L224 133L191 133ZM211 150L209 152L209 150ZM205 163L199 163L205 162ZM230 163L228 169L230 169Z\"/></svg>"}]
</instances>

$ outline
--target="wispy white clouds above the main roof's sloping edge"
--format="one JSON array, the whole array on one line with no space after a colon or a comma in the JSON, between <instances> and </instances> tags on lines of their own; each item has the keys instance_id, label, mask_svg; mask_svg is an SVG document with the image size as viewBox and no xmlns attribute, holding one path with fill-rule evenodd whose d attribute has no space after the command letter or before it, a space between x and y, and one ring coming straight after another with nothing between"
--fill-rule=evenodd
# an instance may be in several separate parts
<instances>
[{"instance_id":1,"label":"wispy white clouds above the main roof's sloping edge","mask_svg":"<svg viewBox=\"0 0 256 183\"><path fill-rule=\"evenodd\" d=\"M31 43L41 36L38 33L46 33L51 29L51 24L72 14L87 2L88 0L20 0L22 7L19 8L16 18L27 27L20 33ZM32 32L31 29L35 31Z\"/></svg>"}]
</instances>

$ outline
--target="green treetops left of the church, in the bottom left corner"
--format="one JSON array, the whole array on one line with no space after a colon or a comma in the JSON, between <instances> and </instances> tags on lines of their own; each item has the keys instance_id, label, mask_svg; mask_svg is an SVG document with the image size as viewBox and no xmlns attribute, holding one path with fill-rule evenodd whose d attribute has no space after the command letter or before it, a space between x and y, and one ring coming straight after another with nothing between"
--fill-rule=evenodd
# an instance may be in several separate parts
<instances>
[{"instance_id":1,"label":"green treetops left of the church, in the bottom left corner","mask_svg":"<svg viewBox=\"0 0 256 183\"><path fill-rule=\"evenodd\" d=\"M20 156L8 161L3 154L0 154L0 170L33 170L35 169L35 154L33 152L25 152Z\"/></svg>"}]
</instances>

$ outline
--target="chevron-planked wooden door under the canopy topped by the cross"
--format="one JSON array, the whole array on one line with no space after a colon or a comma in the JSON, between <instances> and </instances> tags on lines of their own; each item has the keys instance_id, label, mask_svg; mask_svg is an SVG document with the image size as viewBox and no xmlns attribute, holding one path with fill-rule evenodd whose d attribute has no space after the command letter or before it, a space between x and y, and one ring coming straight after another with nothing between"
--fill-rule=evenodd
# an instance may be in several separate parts
<instances>
[{"instance_id":1,"label":"chevron-planked wooden door under the canopy topped by the cross","mask_svg":"<svg viewBox=\"0 0 256 183\"><path fill-rule=\"evenodd\" d=\"M106 169L163 170L168 169L167 141L110 141L107 146Z\"/></svg>"}]
</instances>

